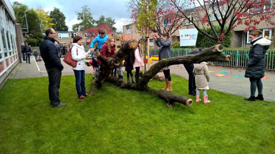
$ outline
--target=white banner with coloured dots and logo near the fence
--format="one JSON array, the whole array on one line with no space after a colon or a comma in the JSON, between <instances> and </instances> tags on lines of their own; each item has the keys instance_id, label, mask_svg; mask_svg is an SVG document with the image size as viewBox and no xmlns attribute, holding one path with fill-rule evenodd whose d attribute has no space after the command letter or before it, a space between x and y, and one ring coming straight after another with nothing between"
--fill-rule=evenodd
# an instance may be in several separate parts
<instances>
[{"instance_id":1,"label":"white banner with coloured dots and logo near the fence","mask_svg":"<svg viewBox=\"0 0 275 154\"><path fill-rule=\"evenodd\" d=\"M198 30L196 28L179 30L179 33L180 46L196 46L198 37Z\"/></svg>"}]
</instances>

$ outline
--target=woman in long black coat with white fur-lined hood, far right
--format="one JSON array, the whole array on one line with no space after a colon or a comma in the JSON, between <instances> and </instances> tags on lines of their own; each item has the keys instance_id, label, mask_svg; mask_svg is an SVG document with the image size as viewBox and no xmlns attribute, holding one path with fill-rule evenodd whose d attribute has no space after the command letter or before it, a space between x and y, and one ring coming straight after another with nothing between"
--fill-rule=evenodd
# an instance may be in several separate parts
<instances>
[{"instance_id":1,"label":"woman in long black coat with white fur-lined hood, far right","mask_svg":"<svg viewBox=\"0 0 275 154\"><path fill-rule=\"evenodd\" d=\"M271 41L263 38L260 30L252 30L249 32L248 37L252 46L249 49L244 77L249 78L250 81L250 97L245 100L264 100L261 78L265 76L266 50L269 48ZM255 97L256 89L258 89L257 97Z\"/></svg>"}]
</instances>

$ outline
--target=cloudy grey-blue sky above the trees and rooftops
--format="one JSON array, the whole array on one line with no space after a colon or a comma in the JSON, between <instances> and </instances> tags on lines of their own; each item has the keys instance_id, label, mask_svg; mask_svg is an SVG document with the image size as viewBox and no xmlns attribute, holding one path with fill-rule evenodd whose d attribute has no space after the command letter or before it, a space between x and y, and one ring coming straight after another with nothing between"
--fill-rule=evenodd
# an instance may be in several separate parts
<instances>
[{"instance_id":1,"label":"cloudy grey-blue sky above the trees and rooftops","mask_svg":"<svg viewBox=\"0 0 275 154\"><path fill-rule=\"evenodd\" d=\"M83 5L88 5L95 20L103 15L105 18L111 17L115 19L115 27L117 31L122 31L122 26L126 25L129 20L130 14L127 12L125 3L128 0L10 0L27 5L29 8L37 9L42 7L45 11L52 11L54 7L60 9L66 17L66 25L69 26L71 31L72 25L79 23L75 12L81 12Z\"/></svg>"}]
</instances>

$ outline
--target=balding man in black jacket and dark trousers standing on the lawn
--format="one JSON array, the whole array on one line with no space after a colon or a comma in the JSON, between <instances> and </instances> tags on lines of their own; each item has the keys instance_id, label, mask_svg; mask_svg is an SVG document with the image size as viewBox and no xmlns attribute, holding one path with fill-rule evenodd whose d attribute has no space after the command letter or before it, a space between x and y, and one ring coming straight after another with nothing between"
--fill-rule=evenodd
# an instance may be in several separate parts
<instances>
[{"instance_id":1,"label":"balding man in black jacket and dark trousers standing on the lawn","mask_svg":"<svg viewBox=\"0 0 275 154\"><path fill-rule=\"evenodd\" d=\"M59 100L61 71L63 71L64 67L61 64L58 52L54 45L56 33L52 28L46 29L45 33L46 36L41 42L39 50L48 72L50 103L53 107L65 106L67 104L61 103Z\"/></svg>"}]
</instances>

